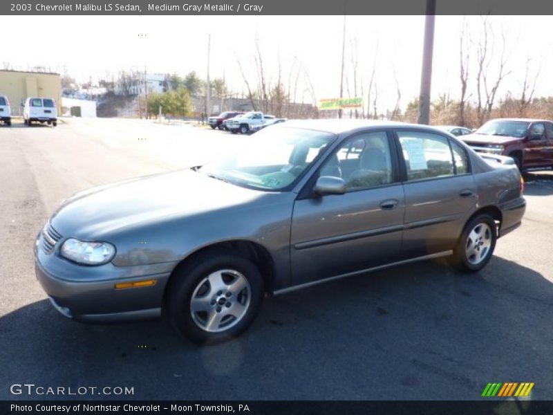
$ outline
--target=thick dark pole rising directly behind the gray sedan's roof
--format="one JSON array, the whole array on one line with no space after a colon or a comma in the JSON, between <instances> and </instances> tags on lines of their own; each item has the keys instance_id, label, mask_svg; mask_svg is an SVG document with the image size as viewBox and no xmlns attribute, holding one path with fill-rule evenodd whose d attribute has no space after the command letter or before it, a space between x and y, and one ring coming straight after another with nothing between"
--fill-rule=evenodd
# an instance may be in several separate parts
<instances>
[{"instance_id":1,"label":"thick dark pole rising directly behind the gray sedan's roof","mask_svg":"<svg viewBox=\"0 0 553 415\"><path fill-rule=\"evenodd\" d=\"M424 46L422 49L422 74L420 77L419 124L430 123L430 86L432 81L435 12L436 0L427 0L427 17L424 21Z\"/></svg>"}]
</instances>

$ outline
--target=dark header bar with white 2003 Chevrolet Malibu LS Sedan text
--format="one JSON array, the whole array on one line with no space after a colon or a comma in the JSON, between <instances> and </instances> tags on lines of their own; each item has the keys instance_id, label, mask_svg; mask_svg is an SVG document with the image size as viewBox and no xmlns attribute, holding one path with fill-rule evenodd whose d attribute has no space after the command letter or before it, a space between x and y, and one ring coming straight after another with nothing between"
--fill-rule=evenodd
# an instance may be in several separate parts
<instances>
[{"instance_id":1,"label":"dark header bar with white 2003 Chevrolet Malibu LS Sedan text","mask_svg":"<svg viewBox=\"0 0 553 415\"><path fill-rule=\"evenodd\" d=\"M250 1L250 0L246 0ZM424 15L427 0L3 0L0 15ZM550 0L436 0L436 15L553 15Z\"/></svg>"}]
</instances>

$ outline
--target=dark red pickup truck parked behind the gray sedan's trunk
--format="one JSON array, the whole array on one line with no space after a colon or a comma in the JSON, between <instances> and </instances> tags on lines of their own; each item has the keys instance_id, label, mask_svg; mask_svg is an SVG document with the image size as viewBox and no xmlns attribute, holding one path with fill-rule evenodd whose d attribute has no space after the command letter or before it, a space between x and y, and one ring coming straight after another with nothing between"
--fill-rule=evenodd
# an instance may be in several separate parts
<instances>
[{"instance_id":1,"label":"dark red pickup truck parked behind the gray sedan's trunk","mask_svg":"<svg viewBox=\"0 0 553 415\"><path fill-rule=\"evenodd\" d=\"M531 118L489 120L462 136L474 151L514 158L518 169L553 167L553 122Z\"/></svg>"}]
</instances>

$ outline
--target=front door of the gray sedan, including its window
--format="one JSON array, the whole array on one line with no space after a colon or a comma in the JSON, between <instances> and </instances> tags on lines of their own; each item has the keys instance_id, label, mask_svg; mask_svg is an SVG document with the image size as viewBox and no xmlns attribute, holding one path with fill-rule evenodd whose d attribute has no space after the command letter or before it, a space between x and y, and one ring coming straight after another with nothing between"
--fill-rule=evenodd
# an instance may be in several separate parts
<instances>
[{"instance_id":1,"label":"front door of the gray sedan, including its window","mask_svg":"<svg viewBox=\"0 0 553 415\"><path fill-rule=\"evenodd\" d=\"M341 195L294 203L290 255L293 285L344 276L400 257L404 190L397 154L386 131L348 138L318 176L346 182Z\"/></svg>"}]
</instances>

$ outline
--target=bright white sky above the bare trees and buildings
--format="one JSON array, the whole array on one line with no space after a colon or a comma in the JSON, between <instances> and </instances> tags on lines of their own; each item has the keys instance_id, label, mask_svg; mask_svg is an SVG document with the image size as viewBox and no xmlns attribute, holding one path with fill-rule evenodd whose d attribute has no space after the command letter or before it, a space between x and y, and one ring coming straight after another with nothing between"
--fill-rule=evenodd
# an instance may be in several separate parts
<instances>
[{"instance_id":1,"label":"bright white sky above the bare trees and buildings","mask_svg":"<svg viewBox=\"0 0 553 415\"><path fill-rule=\"evenodd\" d=\"M466 19L466 20L465 20ZM435 19L435 43L432 95L458 95L459 37L466 22L473 42L478 41L480 17L438 16ZM494 30L494 55L500 52L500 33L507 39L512 71L503 89L516 93L521 89L530 57L531 71L541 65L536 95L553 95L550 68L553 64L551 17L489 17ZM3 32L12 41L2 46L1 63L15 69L46 66L53 71L67 71L77 80L105 77L107 72L147 67L151 73L185 74L196 71L205 78L207 38L212 36L211 77L223 77L230 89L245 91L236 56L254 83L254 39L259 39L265 69L272 81L278 76L281 59L283 81L301 63L309 74L317 99L339 96L343 16L14 16L3 21ZM48 42L35 30L25 28L46 25ZM6 27L7 26L7 27ZM420 86L424 16L348 16L346 17L346 75L353 96L353 73L350 42L357 39L359 80L366 93L375 56L375 81L379 93L379 111L393 109L396 82L402 93L402 107L418 95ZM44 33L44 32L41 32ZM142 35L142 36L139 36ZM55 43L53 43L55 42ZM55 44L54 47L45 47ZM476 48L470 49L476 64ZM489 64L496 72L497 59ZM475 68L471 66L471 75ZM295 76L295 75L294 75ZM292 79L294 78L292 76ZM474 82L473 82L474 84ZM302 94L306 85L300 78L297 100L310 100ZM346 86L344 86L344 90ZM360 95L358 86L357 95ZM469 88L474 94L474 87ZM344 91L344 95L348 95Z\"/></svg>"}]
</instances>

